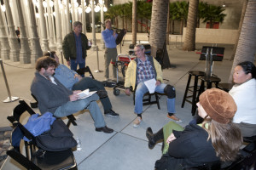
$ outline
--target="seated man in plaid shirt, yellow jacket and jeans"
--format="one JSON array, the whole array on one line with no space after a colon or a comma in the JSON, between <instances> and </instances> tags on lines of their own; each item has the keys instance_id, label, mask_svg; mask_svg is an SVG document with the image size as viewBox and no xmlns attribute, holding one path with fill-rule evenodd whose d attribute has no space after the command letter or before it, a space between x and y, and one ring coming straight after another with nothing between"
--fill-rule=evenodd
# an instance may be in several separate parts
<instances>
[{"instance_id":1,"label":"seated man in plaid shirt, yellow jacket and jeans","mask_svg":"<svg viewBox=\"0 0 256 170\"><path fill-rule=\"evenodd\" d=\"M155 92L167 95L167 117L176 122L182 122L174 115L175 111L175 88L169 84L161 83L163 81L160 64L152 57L145 54L145 48L142 44L137 44L134 48L136 59L131 60L125 72L125 94L131 95L130 87L135 92L135 108L137 119L133 122L133 126L137 127L143 121L143 95L148 92L148 88L144 84L145 81L155 79Z\"/></svg>"}]
</instances>

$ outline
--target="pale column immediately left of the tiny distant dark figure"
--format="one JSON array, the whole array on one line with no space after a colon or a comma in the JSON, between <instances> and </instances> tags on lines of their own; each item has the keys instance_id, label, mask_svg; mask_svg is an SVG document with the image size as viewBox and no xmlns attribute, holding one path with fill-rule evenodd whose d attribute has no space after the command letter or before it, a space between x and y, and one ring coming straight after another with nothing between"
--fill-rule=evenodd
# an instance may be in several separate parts
<instances>
[{"instance_id":1,"label":"pale column immediately left of the tiny distant dark figure","mask_svg":"<svg viewBox=\"0 0 256 170\"><path fill-rule=\"evenodd\" d=\"M20 44L18 42L18 37L15 34L15 25L13 20L13 15L9 6L9 0L3 0L6 9L6 16L8 20L9 27L9 46L10 46L10 60L19 61L20 60Z\"/></svg>"}]
</instances>

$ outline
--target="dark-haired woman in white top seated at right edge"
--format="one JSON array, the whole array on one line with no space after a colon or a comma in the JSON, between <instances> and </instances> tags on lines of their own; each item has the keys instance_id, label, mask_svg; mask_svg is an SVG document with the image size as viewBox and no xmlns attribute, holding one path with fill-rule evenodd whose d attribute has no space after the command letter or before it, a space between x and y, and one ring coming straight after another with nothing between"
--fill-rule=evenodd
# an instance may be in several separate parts
<instances>
[{"instance_id":1,"label":"dark-haired woman in white top seated at right edge","mask_svg":"<svg viewBox=\"0 0 256 170\"><path fill-rule=\"evenodd\" d=\"M250 61L236 65L229 94L235 99L237 111L233 118L243 137L256 135L256 67Z\"/></svg>"}]
</instances>

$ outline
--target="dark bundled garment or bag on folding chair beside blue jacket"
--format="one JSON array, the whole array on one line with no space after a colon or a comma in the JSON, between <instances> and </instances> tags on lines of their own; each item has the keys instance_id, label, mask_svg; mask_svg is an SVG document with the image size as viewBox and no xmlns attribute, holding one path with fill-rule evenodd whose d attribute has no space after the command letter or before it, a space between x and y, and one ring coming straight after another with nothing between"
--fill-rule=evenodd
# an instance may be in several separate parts
<instances>
[{"instance_id":1,"label":"dark bundled garment or bag on folding chair beside blue jacket","mask_svg":"<svg viewBox=\"0 0 256 170\"><path fill-rule=\"evenodd\" d=\"M56 119L49 131L36 137L38 147L47 151L61 151L77 145L73 133L61 119Z\"/></svg>"}]
</instances>

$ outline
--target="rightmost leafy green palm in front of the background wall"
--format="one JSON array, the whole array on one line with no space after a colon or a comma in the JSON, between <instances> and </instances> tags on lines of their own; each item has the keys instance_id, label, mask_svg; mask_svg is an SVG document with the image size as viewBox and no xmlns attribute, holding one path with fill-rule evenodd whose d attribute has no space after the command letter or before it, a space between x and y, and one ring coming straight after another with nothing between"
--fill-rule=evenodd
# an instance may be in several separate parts
<instances>
[{"instance_id":1,"label":"rightmost leafy green palm in front of the background wall","mask_svg":"<svg viewBox=\"0 0 256 170\"><path fill-rule=\"evenodd\" d=\"M224 8L215 5L208 5L205 13L204 23L210 22L210 28L213 28L215 22L223 23L226 14L223 14Z\"/></svg>"}]
</instances>

